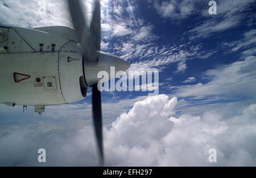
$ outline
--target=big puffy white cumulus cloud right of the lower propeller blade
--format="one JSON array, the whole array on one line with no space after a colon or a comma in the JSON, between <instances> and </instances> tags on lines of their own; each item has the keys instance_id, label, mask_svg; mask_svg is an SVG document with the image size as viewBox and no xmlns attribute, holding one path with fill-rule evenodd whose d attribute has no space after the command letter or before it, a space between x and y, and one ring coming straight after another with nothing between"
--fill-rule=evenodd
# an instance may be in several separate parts
<instances>
[{"instance_id":1,"label":"big puffy white cumulus cloud right of the lower propeller blade","mask_svg":"<svg viewBox=\"0 0 256 178\"><path fill-rule=\"evenodd\" d=\"M256 105L243 110L242 115L223 120L220 114L207 112L203 117L170 117L176 104L176 98L159 95L137 102L129 113L121 114L106 131L109 164L256 164L255 145L246 144L255 139ZM217 150L217 163L208 162L210 148Z\"/></svg>"}]
</instances>

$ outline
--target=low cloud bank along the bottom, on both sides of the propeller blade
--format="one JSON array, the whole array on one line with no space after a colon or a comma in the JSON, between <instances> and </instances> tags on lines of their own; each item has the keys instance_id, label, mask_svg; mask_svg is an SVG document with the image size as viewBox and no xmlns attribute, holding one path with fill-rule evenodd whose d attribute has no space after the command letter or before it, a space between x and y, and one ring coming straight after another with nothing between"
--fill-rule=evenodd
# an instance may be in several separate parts
<instances>
[{"instance_id":1,"label":"low cloud bank along the bottom, on both sides of the propeller blade","mask_svg":"<svg viewBox=\"0 0 256 178\"><path fill-rule=\"evenodd\" d=\"M176 104L176 97L148 97L105 126L106 165L256 165L256 105L223 118L218 111L176 115ZM42 165L39 147L48 153L44 165L97 165L92 123L62 126L40 122L1 136L1 165ZM217 151L217 163L208 162L210 148Z\"/></svg>"}]
</instances>

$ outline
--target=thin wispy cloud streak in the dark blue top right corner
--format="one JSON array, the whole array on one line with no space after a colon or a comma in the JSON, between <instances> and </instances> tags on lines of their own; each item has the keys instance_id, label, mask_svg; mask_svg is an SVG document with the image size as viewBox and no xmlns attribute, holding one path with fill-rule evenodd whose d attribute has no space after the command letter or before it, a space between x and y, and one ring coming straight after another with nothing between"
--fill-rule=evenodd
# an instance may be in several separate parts
<instances>
[{"instance_id":1,"label":"thin wispy cloud streak in the dark blue top right corner","mask_svg":"<svg viewBox=\"0 0 256 178\"><path fill-rule=\"evenodd\" d=\"M191 40L197 38L208 38L216 32L222 32L229 28L235 28L241 22L248 25L254 17L247 13L254 1L219 1L217 2L217 15L209 15L208 9L203 11L203 16L208 17L199 24L196 24L192 30L185 32Z\"/></svg>"}]
</instances>

